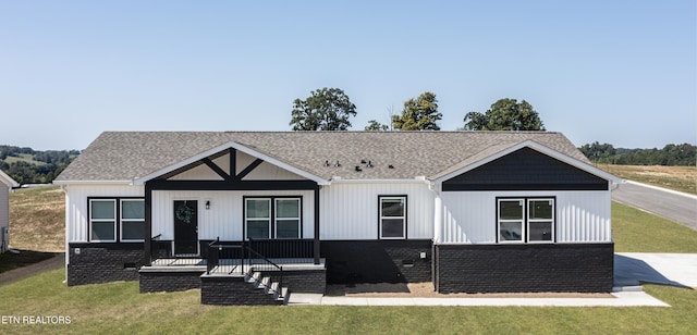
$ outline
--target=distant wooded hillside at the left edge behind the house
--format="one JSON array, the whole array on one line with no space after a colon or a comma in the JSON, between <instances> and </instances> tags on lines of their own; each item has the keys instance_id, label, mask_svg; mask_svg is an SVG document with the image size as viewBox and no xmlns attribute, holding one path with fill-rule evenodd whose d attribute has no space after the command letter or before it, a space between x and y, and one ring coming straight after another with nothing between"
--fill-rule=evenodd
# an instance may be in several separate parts
<instances>
[{"instance_id":1,"label":"distant wooded hillside at the left edge behind the house","mask_svg":"<svg viewBox=\"0 0 697 335\"><path fill-rule=\"evenodd\" d=\"M20 184L46 184L53 182L78 154L78 150L39 151L26 147L0 146L0 170Z\"/></svg>"}]
</instances>

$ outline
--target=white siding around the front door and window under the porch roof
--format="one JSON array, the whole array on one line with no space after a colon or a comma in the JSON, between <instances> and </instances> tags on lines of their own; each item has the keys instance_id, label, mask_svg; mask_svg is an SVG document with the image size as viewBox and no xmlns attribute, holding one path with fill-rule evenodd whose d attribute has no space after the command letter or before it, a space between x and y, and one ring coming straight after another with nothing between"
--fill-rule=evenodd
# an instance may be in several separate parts
<instances>
[{"instance_id":1,"label":"white siding around the front door and window under the porch roof","mask_svg":"<svg viewBox=\"0 0 697 335\"><path fill-rule=\"evenodd\" d=\"M302 198L303 238L315 235L313 190L154 190L152 235L160 239L174 239L174 201L198 201L198 239L242 240L244 225L244 197ZM206 209L206 201L210 208Z\"/></svg>"}]
</instances>

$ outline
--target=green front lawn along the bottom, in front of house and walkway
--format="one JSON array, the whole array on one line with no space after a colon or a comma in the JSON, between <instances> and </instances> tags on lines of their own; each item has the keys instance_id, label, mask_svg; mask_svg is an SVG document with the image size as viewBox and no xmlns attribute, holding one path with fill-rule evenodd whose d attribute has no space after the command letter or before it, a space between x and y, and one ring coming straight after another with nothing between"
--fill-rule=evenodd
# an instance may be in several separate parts
<instances>
[{"instance_id":1,"label":"green front lawn along the bottom, in front of house and walkway","mask_svg":"<svg viewBox=\"0 0 697 335\"><path fill-rule=\"evenodd\" d=\"M647 285L672 308L211 307L199 290L138 294L135 282L66 287L56 270L0 287L0 315L70 315L68 325L1 324L0 333L689 334L697 291Z\"/></svg>"}]
</instances>

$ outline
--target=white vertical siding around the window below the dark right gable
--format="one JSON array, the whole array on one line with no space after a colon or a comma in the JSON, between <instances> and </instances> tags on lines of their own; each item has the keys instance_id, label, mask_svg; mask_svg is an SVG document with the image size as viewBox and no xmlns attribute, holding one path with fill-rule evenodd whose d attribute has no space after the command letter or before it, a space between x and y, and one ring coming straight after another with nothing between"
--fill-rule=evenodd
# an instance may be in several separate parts
<instances>
[{"instance_id":1,"label":"white vertical siding around the window below the dark right gable","mask_svg":"<svg viewBox=\"0 0 697 335\"><path fill-rule=\"evenodd\" d=\"M497 198L555 198L557 243L609 243L610 191L443 191L438 244L496 244ZM440 202L440 204L439 204Z\"/></svg>"}]
</instances>

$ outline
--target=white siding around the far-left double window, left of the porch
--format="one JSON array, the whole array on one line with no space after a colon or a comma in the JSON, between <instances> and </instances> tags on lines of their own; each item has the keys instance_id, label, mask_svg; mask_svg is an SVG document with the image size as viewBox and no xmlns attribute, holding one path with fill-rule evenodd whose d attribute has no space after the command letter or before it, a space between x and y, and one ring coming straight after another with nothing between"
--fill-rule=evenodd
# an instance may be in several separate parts
<instances>
[{"instance_id":1,"label":"white siding around the far-left double window, left of the porch","mask_svg":"<svg viewBox=\"0 0 697 335\"><path fill-rule=\"evenodd\" d=\"M65 234L68 243L86 243L88 236L87 198L145 197L143 186L131 185L68 185L65 190Z\"/></svg>"}]
</instances>

